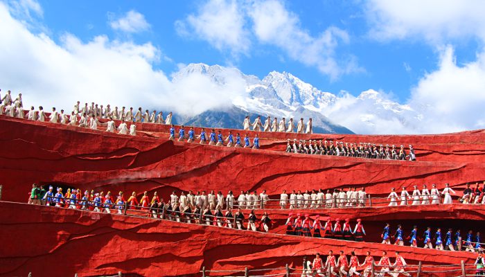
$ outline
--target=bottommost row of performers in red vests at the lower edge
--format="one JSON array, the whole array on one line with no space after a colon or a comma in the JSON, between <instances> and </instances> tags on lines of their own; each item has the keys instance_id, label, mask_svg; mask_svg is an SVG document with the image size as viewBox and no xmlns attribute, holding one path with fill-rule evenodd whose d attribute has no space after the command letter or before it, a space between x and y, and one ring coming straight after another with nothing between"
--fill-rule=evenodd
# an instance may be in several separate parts
<instances>
[{"instance_id":1,"label":"bottommost row of performers in red vests at the lower edge","mask_svg":"<svg viewBox=\"0 0 485 277\"><path fill-rule=\"evenodd\" d=\"M382 251L382 256L378 262L375 263L378 267L374 269L376 276L389 276L397 277L400 274L404 276L411 276L405 271L407 265L406 261L399 252L396 251L396 260L391 263L391 260L387 256L386 251ZM351 252L350 260L345 255L344 251L340 251L340 256L336 257L333 255L333 251L328 251L328 256L324 262L320 258L320 254L317 253L313 262L303 258L303 274L302 277L313 277L313 276L364 276L367 277L372 275L372 264L374 263L374 258L371 256L371 252L367 251L366 257L362 264L359 262L355 253ZM362 273L358 271L359 268L364 269ZM393 268L394 270L391 270Z\"/></svg>"}]
</instances>

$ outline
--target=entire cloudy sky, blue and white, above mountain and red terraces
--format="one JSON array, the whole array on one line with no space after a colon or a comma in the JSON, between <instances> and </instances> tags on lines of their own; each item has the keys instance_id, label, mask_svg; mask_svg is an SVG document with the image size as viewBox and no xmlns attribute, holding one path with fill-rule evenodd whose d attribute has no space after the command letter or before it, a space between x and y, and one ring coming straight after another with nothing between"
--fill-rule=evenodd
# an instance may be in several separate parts
<instances>
[{"instance_id":1,"label":"entire cloudy sky, blue and white, above mountain and red terraces","mask_svg":"<svg viewBox=\"0 0 485 277\"><path fill-rule=\"evenodd\" d=\"M0 86L32 105L76 100L195 115L246 97L171 75L189 63L286 71L339 98L355 132L485 128L482 0L0 0ZM378 95L362 100L364 91ZM369 94L367 94L369 95ZM48 103L46 103L48 101ZM382 129L380 126L393 126Z\"/></svg>"}]
</instances>

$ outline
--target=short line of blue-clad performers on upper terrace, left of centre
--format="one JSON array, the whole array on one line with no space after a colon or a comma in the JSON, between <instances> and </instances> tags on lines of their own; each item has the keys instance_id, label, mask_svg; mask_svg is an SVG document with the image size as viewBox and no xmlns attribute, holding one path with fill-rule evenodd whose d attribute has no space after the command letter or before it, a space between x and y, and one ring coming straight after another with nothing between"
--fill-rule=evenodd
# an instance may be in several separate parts
<instances>
[{"instance_id":1,"label":"short line of blue-clad performers on upper terrace, left of centre","mask_svg":"<svg viewBox=\"0 0 485 277\"><path fill-rule=\"evenodd\" d=\"M190 127L187 134L185 132L184 125L180 126L177 135L175 134L175 125L171 125L170 129L170 136L168 139L171 141L187 141L188 143L193 143L195 140L199 140L199 144L209 144L215 146L227 146L227 147L235 147L235 148L253 148L259 149L259 136L258 134L254 135L254 139L251 143L251 139L249 139L248 134L245 134L244 140L241 140L241 136L239 133L236 133L236 136L232 134L232 131L229 130L229 134L224 139L220 130L215 132L215 129L211 129L209 136L206 134L204 128L200 130L200 134L195 135L193 127ZM244 142L244 143L242 143Z\"/></svg>"}]
</instances>

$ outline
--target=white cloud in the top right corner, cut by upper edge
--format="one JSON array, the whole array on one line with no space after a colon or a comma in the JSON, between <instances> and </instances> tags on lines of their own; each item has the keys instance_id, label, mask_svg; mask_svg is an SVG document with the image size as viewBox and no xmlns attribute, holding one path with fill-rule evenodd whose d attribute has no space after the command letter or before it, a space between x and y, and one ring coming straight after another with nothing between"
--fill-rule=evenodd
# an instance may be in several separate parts
<instances>
[{"instance_id":1,"label":"white cloud in the top right corner, cut by upper edge","mask_svg":"<svg viewBox=\"0 0 485 277\"><path fill-rule=\"evenodd\" d=\"M432 44L449 39L485 39L482 0L369 0L367 19L378 39L423 37Z\"/></svg>"}]
</instances>

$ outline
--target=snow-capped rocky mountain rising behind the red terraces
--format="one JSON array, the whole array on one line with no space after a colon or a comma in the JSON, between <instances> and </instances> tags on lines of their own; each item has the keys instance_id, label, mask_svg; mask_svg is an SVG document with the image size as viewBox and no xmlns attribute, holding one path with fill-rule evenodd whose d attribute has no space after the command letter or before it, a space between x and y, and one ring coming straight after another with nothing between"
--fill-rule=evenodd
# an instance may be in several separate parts
<instances>
[{"instance_id":1,"label":"snow-capped rocky mountain rising behind the red terraces","mask_svg":"<svg viewBox=\"0 0 485 277\"><path fill-rule=\"evenodd\" d=\"M231 87L239 92L229 107L210 109L190 118L177 118L187 125L240 128L246 115L277 118L313 118L315 132L321 133L403 133L402 126L418 124L419 116L409 105L400 105L385 93L369 90L358 97L349 93L339 96L313 87L291 73L270 72L263 80L245 75L238 69L207 64L188 64L173 75L173 83L191 75L209 78L214 89ZM243 87L241 87L243 86ZM392 123L389 126L389 120ZM346 127L350 129L347 129Z\"/></svg>"}]
</instances>

